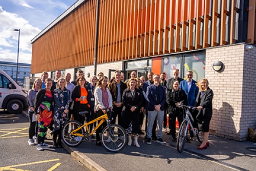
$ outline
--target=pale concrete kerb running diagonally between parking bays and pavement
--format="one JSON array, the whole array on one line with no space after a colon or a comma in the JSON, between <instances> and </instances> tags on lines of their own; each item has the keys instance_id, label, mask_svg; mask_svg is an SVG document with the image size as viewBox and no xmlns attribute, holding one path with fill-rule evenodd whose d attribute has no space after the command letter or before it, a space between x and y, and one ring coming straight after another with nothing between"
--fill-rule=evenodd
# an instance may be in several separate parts
<instances>
[{"instance_id":1,"label":"pale concrete kerb running diagonally between parking bays and pavement","mask_svg":"<svg viewBox=\"0 0 256 171\"><path fill-rule=\"evenodd\" d=\"M28 110L22 111L22 114L25 117L29 118ZM95 161L90 159L88 156L84 155L83 153L80 153L76 148L71 148L63 142L61 142L61 145L68 153L70 153L73 157L75 157L79 162L84 164L91 171L106 171L106 169L101 167L99 164L97 164Z\"/></svg>"}]
</instances>

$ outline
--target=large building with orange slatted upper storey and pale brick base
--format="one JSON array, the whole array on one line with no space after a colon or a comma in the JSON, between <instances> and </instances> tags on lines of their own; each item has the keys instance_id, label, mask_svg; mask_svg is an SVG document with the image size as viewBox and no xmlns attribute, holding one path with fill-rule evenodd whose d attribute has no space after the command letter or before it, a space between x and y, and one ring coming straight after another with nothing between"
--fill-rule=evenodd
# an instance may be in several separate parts
<instances>
[{"instance_id":1,"label":"large building with orange slatted upper storey and pale brick base","mask_svg":"<svg viewBox=\"0 0 256 171\"><path fill-rule=\"evenodd\" d=\"M126 77L174 68L206 77L214 91L210 134L245 140L256 126L252 75L254 0L80 0L32 39L31 73L75 76L120 69ZM248 22L250 21L250 22ZM224 70L215 71L216 61Z\"/></svg>"}]
</instances>

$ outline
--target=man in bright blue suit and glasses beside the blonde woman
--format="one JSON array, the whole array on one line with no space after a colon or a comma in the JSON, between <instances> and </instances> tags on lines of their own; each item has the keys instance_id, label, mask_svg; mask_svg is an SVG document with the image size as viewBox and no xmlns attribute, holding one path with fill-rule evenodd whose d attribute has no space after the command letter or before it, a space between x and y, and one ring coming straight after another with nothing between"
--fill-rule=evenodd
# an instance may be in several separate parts
<instances>
[{"instance_id":1,"label":"man in bright blue suit and glasses beside the blonde woman","mask_svg":"<svg viewBox=\"0 0 256 171\"><path fill-rule=\"evenodd\" d=\"M195 106L196 97L198 94L197 82L192 79L193 71L187 71L187 79L180 82L180 88L187 94L188 106Z\"/></svg>"}]
</instances>

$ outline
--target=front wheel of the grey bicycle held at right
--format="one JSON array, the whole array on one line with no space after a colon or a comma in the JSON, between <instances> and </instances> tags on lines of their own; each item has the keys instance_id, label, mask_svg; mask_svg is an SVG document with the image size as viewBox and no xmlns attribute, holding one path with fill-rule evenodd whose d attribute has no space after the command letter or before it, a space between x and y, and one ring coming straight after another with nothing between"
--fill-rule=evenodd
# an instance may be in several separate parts
<instances>
[{"instance_id":1,"label":"front wheel of the grey bicycle held at right","mask_svg":"<svg viewBox=\"0 0 256 171\"><path fill-rule=\"evenodd\" d=\"M177 150L179 153L183 151L183 148L186 143L186 137L187 137L187 131L186 131L186 126L187 126L187 121L183 120L183 122L180 125L180 130L178 134L178 139L177 139Z\"/></svg>"}]
</instances>

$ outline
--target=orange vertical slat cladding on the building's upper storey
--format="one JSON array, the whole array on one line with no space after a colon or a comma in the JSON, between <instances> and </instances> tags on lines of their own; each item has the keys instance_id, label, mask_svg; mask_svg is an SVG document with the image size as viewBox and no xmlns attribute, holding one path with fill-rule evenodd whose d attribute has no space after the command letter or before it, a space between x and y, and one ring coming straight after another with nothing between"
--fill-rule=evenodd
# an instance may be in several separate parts
<instances>
[{"instance_id":1,"label":"orange vertical slat cladding on the building's upper storey","mask_svg":"<svg viewBox=\"0 0 256 171\"><path fill-rule=\"evenodd\" d=\"M97 63L232 44L239 36L236 0L99 1ZM35 40L31 73L93 65L96 10L97 0L84 1ZM254 29L248 32L253 43Z\"/></svg>"}]
</instances>

